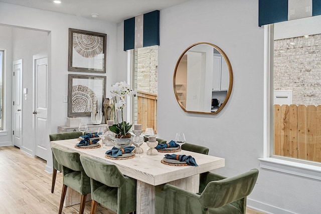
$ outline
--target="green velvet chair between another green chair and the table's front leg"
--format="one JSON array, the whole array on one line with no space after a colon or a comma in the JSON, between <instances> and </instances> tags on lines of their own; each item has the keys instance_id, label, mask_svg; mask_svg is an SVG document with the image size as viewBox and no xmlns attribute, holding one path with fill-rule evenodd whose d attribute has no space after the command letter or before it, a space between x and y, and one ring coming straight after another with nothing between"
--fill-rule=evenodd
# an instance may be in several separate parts
<instances>
[{"instance_id":1,"label":"green velvet chair between another green chair and the table's front leg","mask_svg":"<svg viewBox=\"0 0 321 214\"><path fill-rule=\"evenodd\" d=\"M80 155L91 183L91 210L94 214L97 202L116 213L136 210L136 180L124 176L116 165Z\"/></svg>"}]
</instances>

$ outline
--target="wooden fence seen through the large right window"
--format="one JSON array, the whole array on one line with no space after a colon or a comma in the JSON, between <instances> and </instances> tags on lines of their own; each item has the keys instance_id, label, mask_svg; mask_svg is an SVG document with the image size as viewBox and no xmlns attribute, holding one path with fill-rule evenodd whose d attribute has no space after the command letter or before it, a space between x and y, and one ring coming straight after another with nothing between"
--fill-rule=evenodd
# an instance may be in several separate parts
<instances>
[{"instance_id":1,"label":"wooden fence seen through the large right window","mask_svg":"<svg viewBox=\"0 0 321 214\"><path fill-rule=\"evenodd\" d=\"M321 106L274 105L274 154L321 162Z\"/></svg>"}]
</instances>

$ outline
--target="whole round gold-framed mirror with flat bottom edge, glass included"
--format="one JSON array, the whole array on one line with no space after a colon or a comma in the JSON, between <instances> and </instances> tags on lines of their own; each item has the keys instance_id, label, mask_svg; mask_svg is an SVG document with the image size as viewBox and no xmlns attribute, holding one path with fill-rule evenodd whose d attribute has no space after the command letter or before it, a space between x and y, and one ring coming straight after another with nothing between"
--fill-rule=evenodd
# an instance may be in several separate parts
<instances>
[{"instance_id":1,"label":"whole round gold-framed mirror with flat bottom edge, glass included","mask_svg":"<svg viewBox=\"0 0 321 214\"><path fill-rule=\"evenodd\" d=\"M184 111L217 114L232 92L231 63L219 47L196 43L177 61L173 84L176 99Z\"/></svg>"}]
</instances>

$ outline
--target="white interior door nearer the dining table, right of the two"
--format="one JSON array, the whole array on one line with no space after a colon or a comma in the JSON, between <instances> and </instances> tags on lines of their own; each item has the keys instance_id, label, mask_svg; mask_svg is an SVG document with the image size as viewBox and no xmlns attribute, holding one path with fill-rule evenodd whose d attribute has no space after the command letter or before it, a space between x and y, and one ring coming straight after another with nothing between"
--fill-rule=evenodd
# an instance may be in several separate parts
<instances>
[{"instance_id":1,"label":"white interior door nearer the dining table, right of the two","mask_svg":"<svg viewBox=\"0 0 321 214\"><path fill-rule=\"evenodd\" d=\"M49 137L48 115L48 57L34 57L34 130L35 154L47 160Z\"/></svg>"}]
</instances>

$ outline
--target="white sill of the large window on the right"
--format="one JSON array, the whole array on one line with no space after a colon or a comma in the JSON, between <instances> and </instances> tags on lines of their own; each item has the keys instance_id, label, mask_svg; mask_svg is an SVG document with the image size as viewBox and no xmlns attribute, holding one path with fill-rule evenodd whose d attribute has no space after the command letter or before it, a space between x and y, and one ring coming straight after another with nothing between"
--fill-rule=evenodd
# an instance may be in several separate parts
<instances>
[{"instance_id":1,"label":"white sill of the large window on the right","mask_svg":"<svg viewBox=\"0 0 321 214\"><path fill-rule=\"evenodd\" d=\"M321 180L321 166L281 160L272 157L259 158L258 160L260 161L260 167L264 169Z\"/></svg>"}]
</instances>

